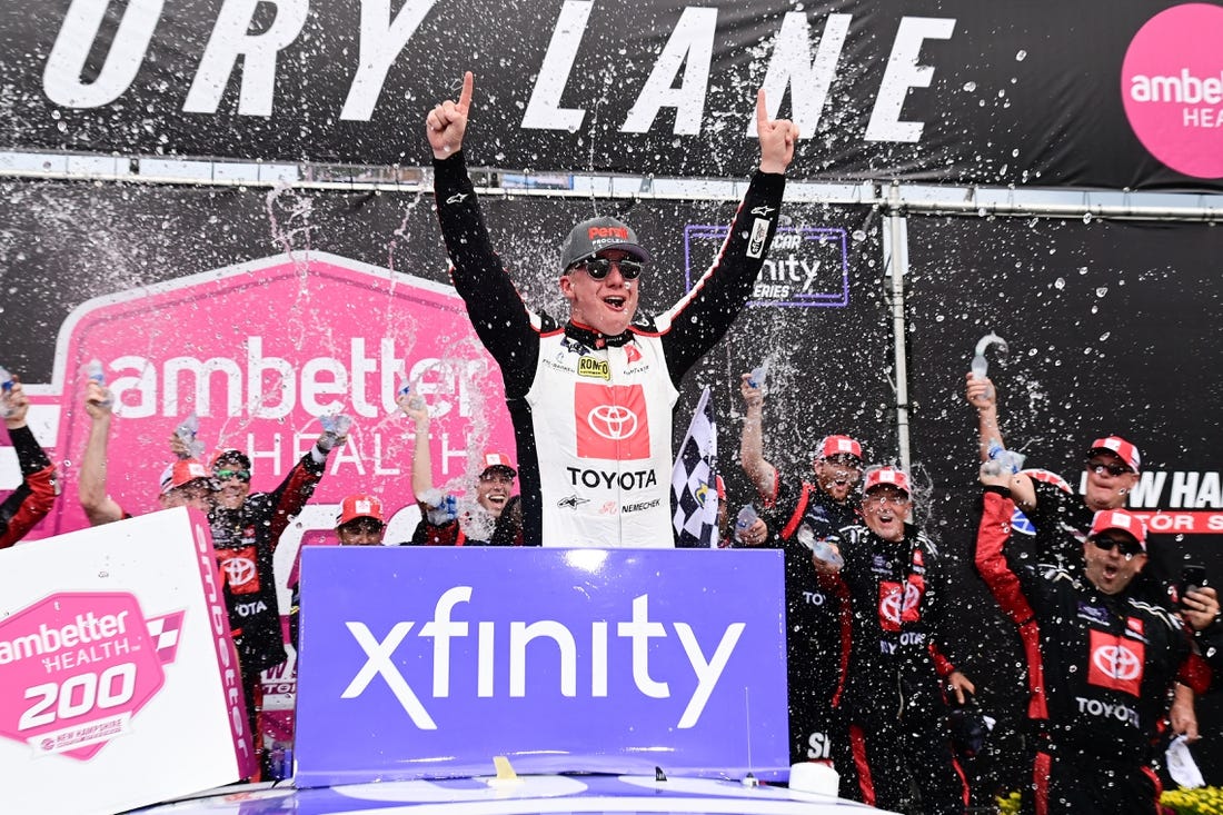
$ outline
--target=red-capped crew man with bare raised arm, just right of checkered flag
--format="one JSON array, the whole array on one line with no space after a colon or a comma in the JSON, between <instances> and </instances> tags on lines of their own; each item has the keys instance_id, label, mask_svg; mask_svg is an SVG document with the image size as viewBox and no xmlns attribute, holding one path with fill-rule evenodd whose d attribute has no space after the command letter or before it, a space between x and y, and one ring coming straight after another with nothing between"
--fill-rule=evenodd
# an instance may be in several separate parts
<instances>
[{"instance_id":1,"label":"red-capped crew man with bare raised arm, just right of checkered flag","mask_svg":"<svg viewBox=\"0 0 1223 815\"><path fill-rule=\"evenodd\" d=\"M745 373L740 393L746 404L740 461L775 535L747 530L735 545L773 546L785 552L790 761L823 760L830 756L832 696L841 672L840 598L818 581L808 546L861 521L857 485L862 478L862 445L849 436L827 436L811 465L813 480L783 478L764 458L766 389ZM800 536L804 525L807 530Z\"/></svg>"}]
</instances>

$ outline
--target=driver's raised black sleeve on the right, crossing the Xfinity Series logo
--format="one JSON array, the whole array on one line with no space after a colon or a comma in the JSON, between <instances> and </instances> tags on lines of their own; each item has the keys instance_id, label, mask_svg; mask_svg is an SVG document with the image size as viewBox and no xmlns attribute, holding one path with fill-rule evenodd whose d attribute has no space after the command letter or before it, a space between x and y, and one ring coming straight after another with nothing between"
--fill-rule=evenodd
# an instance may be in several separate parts
<instances>
[{"instance_id":1,"label":"driver's raised black sleeve on the right, crossing the Xfinity Series logo","mask_svg":"<svg viewBox=\"0 0 1223 815\"><path fill-rule=\"evenodd\" d=\"M758 170L752 175L718 257L668 312L670 324L663 329L662 341L667 368L676 387L747 305L777 233L784 192L785 175ZM753 231L758 221L767 226L763 236Z\"/></svg>"}]
</instances>

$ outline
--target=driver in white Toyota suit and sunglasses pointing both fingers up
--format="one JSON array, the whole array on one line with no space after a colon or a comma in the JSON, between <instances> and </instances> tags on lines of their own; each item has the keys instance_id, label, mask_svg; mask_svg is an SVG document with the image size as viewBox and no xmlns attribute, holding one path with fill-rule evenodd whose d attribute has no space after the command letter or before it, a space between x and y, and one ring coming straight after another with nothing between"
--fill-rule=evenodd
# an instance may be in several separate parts
<instances>
[{"instance_id":1,"label":"driver in white Toyota suit and sunglasses pointing both fingers up","mask_svg":"<svg viewBox=\"0 0 1223 815\"><path fill-rule=\"evenodd\" d=\"M757 97L761 164L711 268L670 311L636 314L649 259L614 218L574 228L561 247L561 324L527 310L493 251L462 154L472 97L427 117L434 195L455 288L501 367L514 422L523 538L544 546L669 547L671 409L678 384L745 306L777 231L797 127Z\"/></svg>"}]
</instances>

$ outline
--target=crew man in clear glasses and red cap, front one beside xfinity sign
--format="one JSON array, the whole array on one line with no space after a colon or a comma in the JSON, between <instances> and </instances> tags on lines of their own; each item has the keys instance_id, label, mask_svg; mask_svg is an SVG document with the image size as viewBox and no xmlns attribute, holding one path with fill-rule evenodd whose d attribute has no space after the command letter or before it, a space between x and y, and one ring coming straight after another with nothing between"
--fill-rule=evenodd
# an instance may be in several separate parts
<instances>
[{"instance_id":1,"label":"crew man in clear glasses and red cap, front one beside xfinity sign","mask_svg":"<svg viewBox=\"0 0 1223 815\"><path fill-rule=\"evenodd\" d=\"M848 798L963 815L969 788L951 749L943 683L961 704L975 688L939 650L949 586L934 545L906 521L911 509L909 475L872 467L862 483L863 524L830 538L844 565L826 565L822 579L846 601L849 644L833 695L843 728L834 765ZM905 809L912 788L920 805Z\"/></svg>"}]
</instances>

